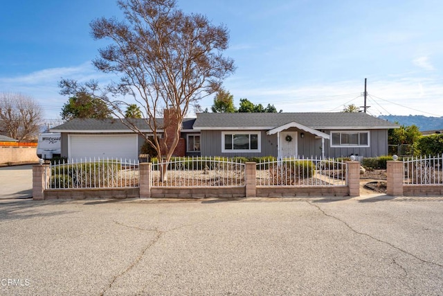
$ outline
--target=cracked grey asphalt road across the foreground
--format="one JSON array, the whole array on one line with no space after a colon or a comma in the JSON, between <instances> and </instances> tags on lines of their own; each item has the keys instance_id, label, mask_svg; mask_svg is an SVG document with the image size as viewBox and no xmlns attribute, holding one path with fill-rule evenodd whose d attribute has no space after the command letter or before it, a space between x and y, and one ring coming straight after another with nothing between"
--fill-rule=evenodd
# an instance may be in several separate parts
<instances>
[{"instance_id":1,"label":"cracked grey asphalt road across the foreground","mask_svg":"<svg viewBox=\"0 0 443 296\"><path fill-rule=\"evenodd\" d=\"M0 295L442 295L431 200L3 200Z\"/></svg>"}]
</instances>

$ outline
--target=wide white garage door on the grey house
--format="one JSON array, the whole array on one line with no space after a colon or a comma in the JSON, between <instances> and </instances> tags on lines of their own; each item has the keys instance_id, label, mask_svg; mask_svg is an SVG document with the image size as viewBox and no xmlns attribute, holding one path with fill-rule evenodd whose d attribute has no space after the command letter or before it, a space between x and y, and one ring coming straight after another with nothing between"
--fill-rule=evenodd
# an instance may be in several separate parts
<instances>
[{"instance_id":1,"label":"wide white garage door on the grey house","mask_svg":"<svg viewBox=\"0 0 443 296\"><path fill-rule=\"evenodd\" d=\"M138 159L136 134L71 134L69 158Z\"/></svg>"}]
</instances>

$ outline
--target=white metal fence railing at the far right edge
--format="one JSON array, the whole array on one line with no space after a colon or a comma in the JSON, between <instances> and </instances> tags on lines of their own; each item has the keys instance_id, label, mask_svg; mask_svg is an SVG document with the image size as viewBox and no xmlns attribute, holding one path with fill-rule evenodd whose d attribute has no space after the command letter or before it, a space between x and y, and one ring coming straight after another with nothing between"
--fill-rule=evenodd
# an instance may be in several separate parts
<instances>
[{"instance_id":1,"label":"white metal fence railing at the far right edge","mask_svg":"<svg viewBox=\"0 0 443 296\"><path fill-rule=\"evenodd\" d=\"M403 160L403 184L443 184L443 155L435 157L408 157Z\"/></svg>"}]
</instances>

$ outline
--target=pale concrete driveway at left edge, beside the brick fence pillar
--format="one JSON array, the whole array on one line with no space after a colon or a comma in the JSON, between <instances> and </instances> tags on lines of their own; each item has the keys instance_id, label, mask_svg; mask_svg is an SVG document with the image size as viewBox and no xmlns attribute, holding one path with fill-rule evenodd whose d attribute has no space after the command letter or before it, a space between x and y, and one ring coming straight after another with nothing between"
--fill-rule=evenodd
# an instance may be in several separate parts
<instances>
[{"instance_id":1,"label":"pale concrete driveway at left edge, beside the brick fence pillar","mask_svg":"<svg viewBox=\"0 0 443 296\"><path fill-rule=\"evenodd\" d=\"M33 165L0 167L0 199L33 196Z\"/></svg>"}]
</instances>

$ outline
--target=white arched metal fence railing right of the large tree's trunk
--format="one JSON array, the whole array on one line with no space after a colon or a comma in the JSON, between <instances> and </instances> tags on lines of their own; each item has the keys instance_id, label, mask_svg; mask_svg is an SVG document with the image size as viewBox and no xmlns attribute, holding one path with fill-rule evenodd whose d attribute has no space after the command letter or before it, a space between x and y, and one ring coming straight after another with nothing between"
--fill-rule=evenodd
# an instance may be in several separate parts
<instances>
[{"instance_id":1,"label":"white arched metal fence railing right of the large tree's trunk","mask_svg":"<svg viewBox=\"0 0 443 296\"><path fill-rule=\"evenodd\" d=\"M226 157L183 157L152 164L154 187L245 186L245 164Z\"/></svg>"}]
</instances>

